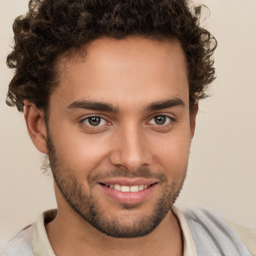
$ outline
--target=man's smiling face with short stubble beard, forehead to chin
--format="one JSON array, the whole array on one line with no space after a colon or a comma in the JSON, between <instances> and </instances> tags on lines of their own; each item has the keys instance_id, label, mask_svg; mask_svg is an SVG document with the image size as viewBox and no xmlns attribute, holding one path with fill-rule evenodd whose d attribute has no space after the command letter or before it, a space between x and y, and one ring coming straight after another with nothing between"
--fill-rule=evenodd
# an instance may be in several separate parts
<instances>
[{"instance_id":1,"label":"man's smiling face with short stubble beard, forehead to chin","mask_svg":"<svg viewBox=\"0 0 256 256\"><path fill-rule=\"evenodd\" d=\"M107 235L146 235L186 174L195 113L189 116L185 57L178 42L145 38L101 38L86 50L86 59L61 59L50 96L47 148L57 193Z\"/></svg>"}]
</instances>

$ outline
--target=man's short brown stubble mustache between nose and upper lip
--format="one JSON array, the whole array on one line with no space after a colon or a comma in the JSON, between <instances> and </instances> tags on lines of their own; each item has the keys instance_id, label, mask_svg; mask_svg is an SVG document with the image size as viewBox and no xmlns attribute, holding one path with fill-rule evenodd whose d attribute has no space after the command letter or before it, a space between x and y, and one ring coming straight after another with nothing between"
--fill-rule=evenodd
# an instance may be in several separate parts
<instances>
[{"instance_id":1,"label":"man's short brown stubble mustache between nose and upper lip","mask_svg":"<svg viewBox=\"0 0 256 256\"><path fill-rule=\"evenodd\" d=\"M97 182L99 179L106 179L106 178L153 178L157 179L161 182L167 181L167 176L162 171L152 171L149 168L141 167L135 171L128 171L122 168L115 168L110 171L98 171L96 173L91 173L87 176L88 183Z\"/></svg>"}]
</instances>

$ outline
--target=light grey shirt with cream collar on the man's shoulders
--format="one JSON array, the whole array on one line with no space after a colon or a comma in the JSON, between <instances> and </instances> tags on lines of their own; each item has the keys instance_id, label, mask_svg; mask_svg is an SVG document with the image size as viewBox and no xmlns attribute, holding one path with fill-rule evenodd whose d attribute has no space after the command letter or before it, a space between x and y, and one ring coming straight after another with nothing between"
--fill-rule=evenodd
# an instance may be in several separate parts
<instances>
[{"instance_id":1,"label":"light grey shirt with cream collar on the man's shoulders","mask_svg":"<svg viewBox=\"0 0 256 256\"><path fill-rule=\"evenodd\" d=\"M183 256L256 256L255 231L204 209L187 210L183 214L172 206L171 211L182 230ZM44 223L54 219L56 213L56 209L44 211L36 222L14 236L0 255L55 256Z\"/></svg>"}]
</instances>

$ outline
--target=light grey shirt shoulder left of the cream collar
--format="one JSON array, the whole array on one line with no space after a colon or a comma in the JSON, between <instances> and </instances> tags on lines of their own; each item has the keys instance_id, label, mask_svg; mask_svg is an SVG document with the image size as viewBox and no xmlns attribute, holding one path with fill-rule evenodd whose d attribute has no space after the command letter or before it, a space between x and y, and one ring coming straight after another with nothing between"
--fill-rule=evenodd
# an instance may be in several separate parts
<instances>
[{"instance_id":1,"label":"light grey shirt shoulder left of the cream collar","mask_svg":"<svg viewBox=\"0 0 256 256\"><path fill-rule=\"evenodd\" d=\"M1 256L33 256L31 225L17 233L2 249Z\"/></svg>"}]
</instances>

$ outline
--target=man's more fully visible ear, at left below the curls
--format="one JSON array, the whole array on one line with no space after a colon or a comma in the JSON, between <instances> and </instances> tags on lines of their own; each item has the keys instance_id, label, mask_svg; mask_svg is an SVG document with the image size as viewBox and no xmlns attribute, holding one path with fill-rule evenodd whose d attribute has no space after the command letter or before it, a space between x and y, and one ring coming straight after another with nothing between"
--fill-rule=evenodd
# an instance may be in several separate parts
<instances>
[{"instance_id":1,"label":"man's more fully visible ear, at left below the curls","mask_svg":"<svg viewBox=\"0 0 256 256\"><path fill-rule=\"evenodd\" d=\"M24 118L28 134L35 147L42 153L47 153L46 146L46 125L44 112L37 109L35 104L24 100Z\"/></svg>"}]
</instances>

